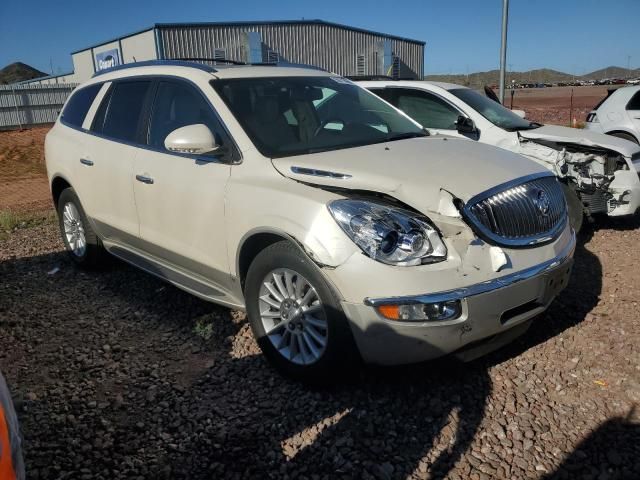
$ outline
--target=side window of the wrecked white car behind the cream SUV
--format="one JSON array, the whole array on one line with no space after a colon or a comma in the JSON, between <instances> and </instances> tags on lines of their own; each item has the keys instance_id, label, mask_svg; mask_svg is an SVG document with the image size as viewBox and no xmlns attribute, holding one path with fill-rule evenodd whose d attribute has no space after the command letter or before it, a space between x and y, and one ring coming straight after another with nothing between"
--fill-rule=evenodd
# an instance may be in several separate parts
<instances>
[{"instance_id":1,"label":"side window of the wrecked white car behind the cream SUV","mask_svg":"<svg viewBox=\"0 0 640 480\"><path fill-rule=\"evenodd\" d=\"M394 105L427 128L455 130L460 115L447 102L426 92L400 90Z\"/></svg>"}]
</instances>

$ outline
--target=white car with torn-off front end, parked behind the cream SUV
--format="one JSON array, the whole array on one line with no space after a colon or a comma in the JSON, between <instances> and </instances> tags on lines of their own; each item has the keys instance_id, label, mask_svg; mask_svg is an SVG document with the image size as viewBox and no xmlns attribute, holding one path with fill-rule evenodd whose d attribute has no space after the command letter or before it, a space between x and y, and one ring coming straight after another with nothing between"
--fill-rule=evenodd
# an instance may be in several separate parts
<instances>
[{"instance_id":1,"label":"white car with torn-off front end, parked behind the cream SUV","mask_svg":"<svg viewBox=\"0 0 640 480\"><path fill-rule=\"evenodd\" d=\"M571 223L584 215L634 214L640 207L640 147L596 132L541 125L460 85L366 81L361 85L431 133L465 137L529 157L563 180Z\"/></svg>"}]
</instances>

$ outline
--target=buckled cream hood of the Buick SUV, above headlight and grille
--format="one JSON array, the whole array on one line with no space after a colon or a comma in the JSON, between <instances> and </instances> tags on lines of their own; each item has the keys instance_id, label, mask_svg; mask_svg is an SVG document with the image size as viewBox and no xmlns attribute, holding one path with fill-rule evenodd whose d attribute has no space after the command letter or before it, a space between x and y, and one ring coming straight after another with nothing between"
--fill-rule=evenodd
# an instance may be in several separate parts
<instances>
[{"instance_id":1,"label":"buckled cream hood of the Buick SUV, above headlight and grille","mask_svg":"<svg viewBox=\"0 0 640 480\"><path fill-rule=\"evenodd\" d=\"M437 211L440 189L467 201L514 178L550 173L507 150L443 137L276 158L273 165L301 182L385 193L423 213ZM348 177L335 178L328 172Z\"/></svg>"}]
</instances>

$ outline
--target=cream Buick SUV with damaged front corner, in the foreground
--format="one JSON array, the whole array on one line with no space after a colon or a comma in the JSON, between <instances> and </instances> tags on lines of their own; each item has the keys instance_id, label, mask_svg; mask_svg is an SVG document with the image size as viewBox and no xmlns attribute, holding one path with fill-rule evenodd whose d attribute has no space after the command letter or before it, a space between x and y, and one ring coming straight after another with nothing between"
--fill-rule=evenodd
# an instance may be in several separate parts
<instances>
[{"instance_id":1,"label":"cream Buick SUV with damaged front corner, in the foreground","mask_svg":"<svg viewBox=\"0 0 640 480\"><path fill-rule=\"evenodd\" d=\"M473 358L524 333L570 275L554 175L426 136L318 70L106 70L71 95L45 155L76 263L106 250L246 309L264 354L304 380L358 356Z\"/></svg>"}]
</instances>

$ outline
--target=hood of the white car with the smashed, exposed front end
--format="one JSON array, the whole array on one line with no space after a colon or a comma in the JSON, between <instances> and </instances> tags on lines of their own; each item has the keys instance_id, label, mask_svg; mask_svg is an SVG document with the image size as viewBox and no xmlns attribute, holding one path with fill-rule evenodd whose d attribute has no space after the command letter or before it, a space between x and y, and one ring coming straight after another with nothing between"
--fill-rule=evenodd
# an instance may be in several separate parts
<instances>
[{"instance_id":1,"label":"hood of the white car with the smashed, exposed front end","mask_svg":"<svg viewBox=\"0 0 640 480\"><path fill-rule=\"evenodd\" d=\"M589 147L608 148L621 153L625 157L631 157L640 152L640 146L629 140L579 128L544 125L533 130L522 130L518 133L521 137L531 140L548 140L550 142L575 143Z\"/></svg>"}]
</instances>

